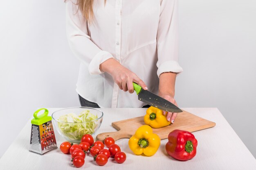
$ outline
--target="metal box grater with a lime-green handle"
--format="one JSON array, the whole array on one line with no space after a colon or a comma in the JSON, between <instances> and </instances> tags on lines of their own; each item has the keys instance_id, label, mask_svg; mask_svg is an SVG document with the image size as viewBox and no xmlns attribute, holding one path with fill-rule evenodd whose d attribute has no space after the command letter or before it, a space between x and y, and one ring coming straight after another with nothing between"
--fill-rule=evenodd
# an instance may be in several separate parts
<instances>
[{"instance_id":1,"label":"metal box grater with a lime-green handle","mask_svg":"<svg viewBox=\"0 0 256 170\"><path fill-rule=\"evenodd\" d=\"M45 112L37 116L41 110L45 110ZM47 109L38 109L34 113L34 119L31 120L31 124L30 152L43 155L58 148L52 126L52 117L48 116Z\"/></svg>"}]
</instances>

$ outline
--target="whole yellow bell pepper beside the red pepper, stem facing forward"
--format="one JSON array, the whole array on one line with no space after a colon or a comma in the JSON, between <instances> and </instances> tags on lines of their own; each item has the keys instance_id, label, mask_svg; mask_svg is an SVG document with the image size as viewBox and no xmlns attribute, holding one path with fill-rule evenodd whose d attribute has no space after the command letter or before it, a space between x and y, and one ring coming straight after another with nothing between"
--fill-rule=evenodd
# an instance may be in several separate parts
<instances>
[{"instance_id":1,"label":"whole yellow bell pepper beside the red pepper, stem facing forward","mask_svg":"<svg viewBox=\"0 0 256 170\"><path fill-rule=\"evenodd\" d=\"M135 135L129 139L129 147L135 155L144 153L146 156L152 156L157 152L161 139L153 129L148 125L140 126Z\"/></svg>"}]
</instances>

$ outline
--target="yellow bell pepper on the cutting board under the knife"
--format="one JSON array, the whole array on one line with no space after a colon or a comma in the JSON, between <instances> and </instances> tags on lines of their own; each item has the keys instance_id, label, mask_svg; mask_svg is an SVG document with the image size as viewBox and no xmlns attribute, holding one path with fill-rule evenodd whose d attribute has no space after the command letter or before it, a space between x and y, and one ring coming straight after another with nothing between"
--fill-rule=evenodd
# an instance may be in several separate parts
<instances>
[{"instance_id":1,"label":"yellow bell pepper on the cutting board under the knife","mask_svg":"<svg viewBox=\"0 0 256 170\"><path fill-rule=\"evenodd\" d=\"M150 106L147 109L147 113L144 116L144 122L153 128L161 128L171 124L171 122L166 120L166 115L163 115L163 111L153 106Z\"/></svg>"}]
</instances>

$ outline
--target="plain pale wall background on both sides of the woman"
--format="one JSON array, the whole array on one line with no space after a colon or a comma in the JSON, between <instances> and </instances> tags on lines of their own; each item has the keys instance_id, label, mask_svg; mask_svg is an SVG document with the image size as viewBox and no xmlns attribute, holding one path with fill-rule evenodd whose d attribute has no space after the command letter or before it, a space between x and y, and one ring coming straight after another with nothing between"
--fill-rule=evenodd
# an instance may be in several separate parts
<instances>
[{"instance_id":1,"label":"plain pale wall background on both sides of the woman","mask_svg":"<svg viewBox=\"0 0 256 170\"><path fill-rule=\"evenodd\" d=\"M256 157L256 1L179 3L177 103L218 107ZM62 0L1 2L0 157L37 108L79 106L78 70Z\"/></svg>"}]
</instances>

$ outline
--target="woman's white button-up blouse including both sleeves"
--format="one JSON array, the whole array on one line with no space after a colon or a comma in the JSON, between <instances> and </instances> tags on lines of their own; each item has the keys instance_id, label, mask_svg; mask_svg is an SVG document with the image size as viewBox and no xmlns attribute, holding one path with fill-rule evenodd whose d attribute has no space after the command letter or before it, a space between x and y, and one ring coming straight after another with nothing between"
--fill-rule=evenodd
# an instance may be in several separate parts
<instances>
[{"instance_id":1,"label":"woman's white button-up blouse including both sleeves","mask_svg":"<svg viewBox=\"0 0 256 170\"><path fill-rule=\"evenodd\" d=\"M146 105L99 70L110 58L137 74L155 94L160 74L183 71L177 62L177 0L107 0L106 5L94 0L91 24L72 1L66 2L67 39L81 61L76 92L86 100L100 107Z\"/></svg>"}]
</instances>

